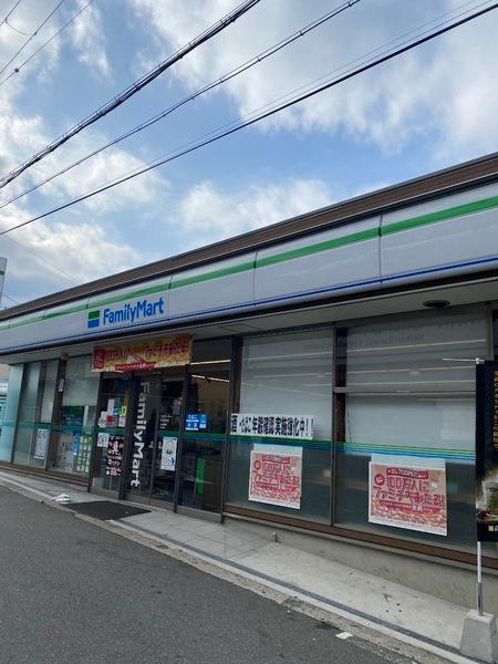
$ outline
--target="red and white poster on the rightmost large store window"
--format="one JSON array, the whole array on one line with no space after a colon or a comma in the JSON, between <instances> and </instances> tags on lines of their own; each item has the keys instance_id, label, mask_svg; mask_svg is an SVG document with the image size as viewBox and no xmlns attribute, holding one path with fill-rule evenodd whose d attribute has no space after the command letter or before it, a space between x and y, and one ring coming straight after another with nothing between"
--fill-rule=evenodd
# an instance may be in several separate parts
<instances>
[{"instance_id":1,"label":"red and white poster on the rightmost large store window","mask_svg":"<svg viewBox=\"0 0 498 664\"><path fill-rule=\"evenodd\" d=\"M447 535L446 467L370 463L369 521Z\"/></svg>"}]
</instances>

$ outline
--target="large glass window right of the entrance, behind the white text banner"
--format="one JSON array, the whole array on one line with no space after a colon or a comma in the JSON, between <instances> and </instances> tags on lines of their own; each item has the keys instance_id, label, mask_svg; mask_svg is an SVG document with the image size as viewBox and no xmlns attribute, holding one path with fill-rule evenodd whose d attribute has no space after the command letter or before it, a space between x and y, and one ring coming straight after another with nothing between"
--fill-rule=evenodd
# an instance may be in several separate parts
<instances>
[{"instance_id":1,"label":"large glass window right of the entrance, behind the white text banner","mask_svg":"<svg viewBox=\"0 0 498 664\"><path fill-rule=\"evenodd\" d=\"M312 417L312 439L232 432L231 505L330 522L332 366L330 329L245 339L240 416Z\"/></svg>"}]
</instances>

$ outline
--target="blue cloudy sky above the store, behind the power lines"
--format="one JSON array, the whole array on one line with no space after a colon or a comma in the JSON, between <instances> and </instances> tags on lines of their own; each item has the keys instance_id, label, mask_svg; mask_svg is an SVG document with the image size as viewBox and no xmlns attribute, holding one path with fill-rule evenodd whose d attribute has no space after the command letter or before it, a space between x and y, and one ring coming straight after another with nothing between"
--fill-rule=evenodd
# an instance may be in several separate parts
<instances>
[{"instance_id":1,"label":"blue cloudy sky above the store, behind the power lines","mask_svg":"<svg viewBox=\"0 0 498 664\"><path fill-rule=\"evenodd\" d=\"M20 0L0 24L0 70L59 2ZM23 64L86 3L63 0L0 74L0 176L239 2L93 0ZM3 187L0 206L341 4L261 0L120 108ZM415 28L488 4L360 0L240 76L0 208L0 229L240 121ZM0 21L13 6L14 0L0 0ZM497 33L495 10L271 118L0 236L0 256L8 259L2 307L497 151ZM10 75L14 68L19 72Z\"/></svg>"}]
</instances>

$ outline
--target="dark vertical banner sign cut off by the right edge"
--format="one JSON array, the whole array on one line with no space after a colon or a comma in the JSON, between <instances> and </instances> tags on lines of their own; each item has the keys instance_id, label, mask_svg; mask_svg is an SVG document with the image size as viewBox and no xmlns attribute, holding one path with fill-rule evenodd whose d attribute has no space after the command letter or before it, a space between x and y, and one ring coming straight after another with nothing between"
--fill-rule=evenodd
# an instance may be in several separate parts
<instances>
[{"instance_id":1,"label":"dark vertical banner sign cut off by the right edge","mask_svg":"<svg viewBox=\"0 0 498 664\"><path fill-rule=\"evenodd\" d=\"M498 362L476 366L477 540L498 542Z\"/></svg>"}]
</instances>

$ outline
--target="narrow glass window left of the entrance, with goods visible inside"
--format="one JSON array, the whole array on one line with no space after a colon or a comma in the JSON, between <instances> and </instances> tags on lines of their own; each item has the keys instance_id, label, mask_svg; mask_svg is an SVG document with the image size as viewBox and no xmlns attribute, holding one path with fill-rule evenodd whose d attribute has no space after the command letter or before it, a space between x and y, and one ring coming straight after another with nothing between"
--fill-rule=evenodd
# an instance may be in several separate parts
<instances>
[{"instance_id":1,"label":"narrow glass window left of the entrance, with goods visible inside","mask_svg":"<svg viewBox=\"0 0 498 664\"><path fill-rule=\"evenodd\" d=\"M92 373L91 366L91 356L68 360L58 430L50 448L54 470L89 474L100 382L100 373Z\"/></svg>"}]
</instances>

